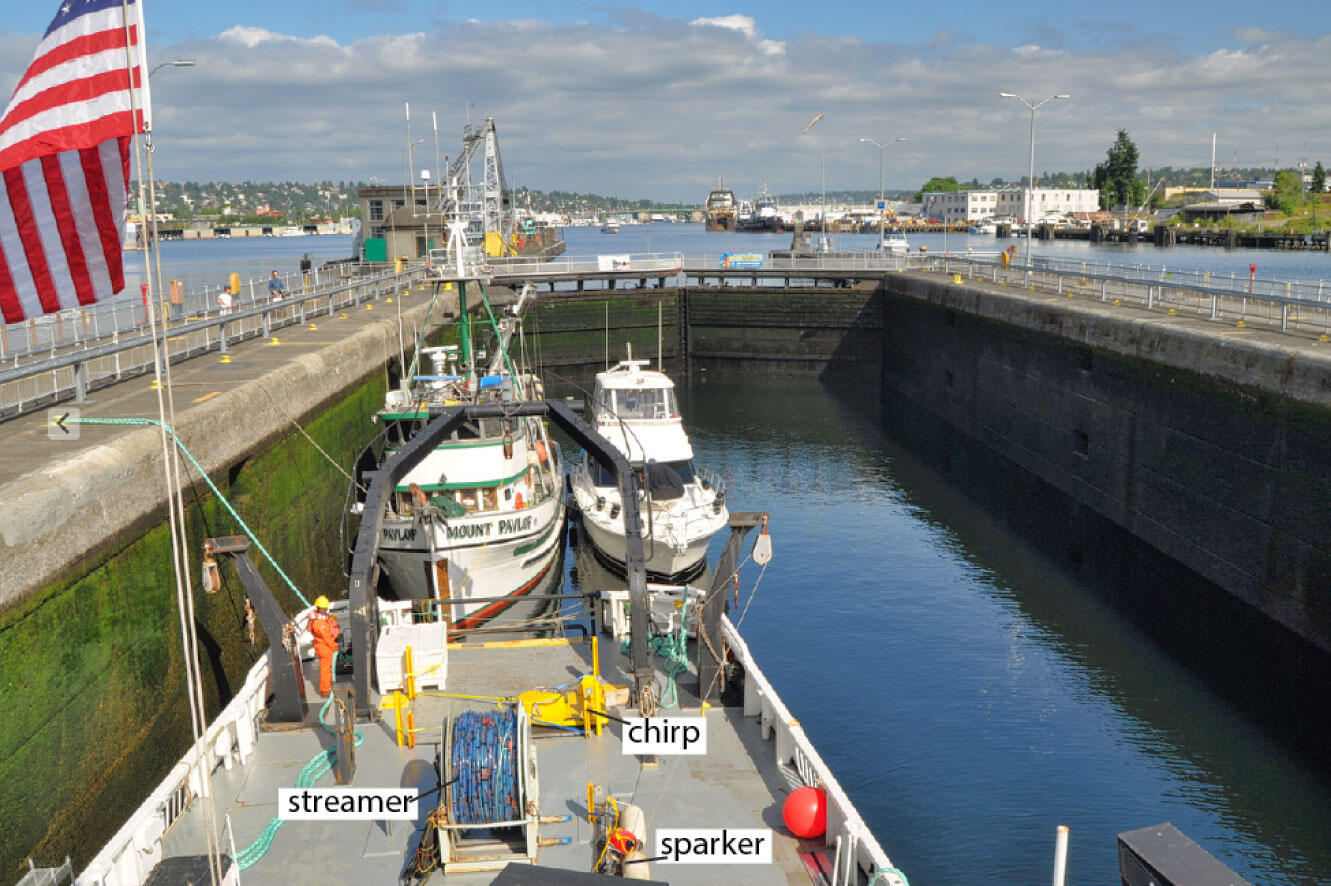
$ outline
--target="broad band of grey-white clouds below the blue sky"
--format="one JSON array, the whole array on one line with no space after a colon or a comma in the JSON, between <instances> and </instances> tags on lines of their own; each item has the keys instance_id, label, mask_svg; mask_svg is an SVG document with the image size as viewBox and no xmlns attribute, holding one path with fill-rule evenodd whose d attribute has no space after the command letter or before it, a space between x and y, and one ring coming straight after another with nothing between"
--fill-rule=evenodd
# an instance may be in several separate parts
<instances>
[{"instance_id":1,"label":"broad band of grey-white clouds below the blue sky","mask_svg":"<svg viewBox=\"0 0 1331 886\"><path fill-rule=\"evenodd\" d=\"M0 82L32 52L5 45L0 36ZM1205 165L1213 130L1239 145L1240 162L1270 162L1271 142L1302 144L1304 126L1308 156L1331 160L1331 36L1198 55L1131 41L1063 52L950 37L780 43L748 16L640 16L455 21L346 45L237 25L154 52L198 60L153 78L156 164L177 180L399 180L410 101L413 138L431 136L438 109L446 154L467 102L473 121L492 114L507 174L532 188L701 200L724 176L741 193L764 180L777 193L816 189L819 140L800 130L819 112L829 188L877 186L877 156L860 137L909 138L886 154L889 188L934 174L989 181L1026 169L1029 116L1000 90L1073 94L1040 112L1041 170L1094 166L1118 126L1143 166Z\"/></svg>"}]
</instances>

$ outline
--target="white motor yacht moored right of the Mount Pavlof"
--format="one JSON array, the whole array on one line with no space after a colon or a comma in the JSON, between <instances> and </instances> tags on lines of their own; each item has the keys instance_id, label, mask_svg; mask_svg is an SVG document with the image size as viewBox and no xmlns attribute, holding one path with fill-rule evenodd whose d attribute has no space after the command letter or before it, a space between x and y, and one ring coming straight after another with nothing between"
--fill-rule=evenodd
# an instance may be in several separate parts
<instances>
[{"instance_id":1,"label":"white motor yacht moored right of the Mount Pavlof","mask_svg":"<svg viewBox=\"0 0 1331 886\"><path fill-rule=\"evenodd\" d=\"M630 349L628 359L596 374L594 424L643 476L648 573L677 577L703 567L708 541L725 525L725 488L715 474L693 466L675 383L648 366L651 361L632 359ZM584 454L570 486L596 551L623 564L623 500L615 479Z\"/></svg>"}]
</instances>

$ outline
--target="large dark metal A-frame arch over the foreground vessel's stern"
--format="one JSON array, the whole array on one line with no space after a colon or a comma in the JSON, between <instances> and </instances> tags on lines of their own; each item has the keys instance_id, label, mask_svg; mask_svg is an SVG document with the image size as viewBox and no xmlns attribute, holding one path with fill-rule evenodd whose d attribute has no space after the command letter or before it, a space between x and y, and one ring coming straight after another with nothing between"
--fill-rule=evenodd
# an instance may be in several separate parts
<instances>
[{"instance_id":1,"label":"large dark metal A-frame arch over the foreground vessel's stern","mask_svg":"<svg viewBox=\"0 0 1331 886\"><path fill-rule=\"evenodd\" d=\"M642 521L638 506L638 478L623 452L583 422L574 410L560 400L528 400L520 403L486 403L450 406L439 410L411 440L389 459L382 468L370 474L370 488L365 496L361 531L355 536L351 556L351 577L347 585L350 604L350 635L353 682L355 686L357 716L370 718L377 710L370 706L370 680L374 647L378 640L378 600L374 595L377 580L378 544L383 517L394 487L458 430L463 422L483 418L522 418L539 415L562 428L572 442L619 483L623 498L624 532L627 536L626 572L631 604L630 637L634 689L638 697L654 684L651 656L647 649L647 569L643 563Z\"/></svg>"}]
</instances>

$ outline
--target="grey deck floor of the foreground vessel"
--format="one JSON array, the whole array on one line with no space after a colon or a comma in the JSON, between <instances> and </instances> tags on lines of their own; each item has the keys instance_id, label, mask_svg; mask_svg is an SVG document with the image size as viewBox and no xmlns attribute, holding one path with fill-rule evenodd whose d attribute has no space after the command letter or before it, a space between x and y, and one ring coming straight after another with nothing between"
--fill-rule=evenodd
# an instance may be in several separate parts
<instances>
[{"instance_id":1,"label":"grey deck floor of the foreground vessel","mask_svg":"<svg viewBox=\"0 0 1331 886\"><path fill-rule=\"evenodd\" d=\"M554 688L590 670L591 645L466 648L449 651L447 692L484 696L512 696L527 689ZM624 685L624 657L610 637L600 643L602 676ZM309 677L310 674L307 674ZM696 685L696 676L681 678ZM696 696L681 686L680 705L696 713ZM311 693L311 697L317 697ZM434 788L435 742L450 710L486 706L486 702L421 694L415 701L417 748L398 748L393 736L391 712L378 724L362 724L365 742L357 750L357 788L414 785ZM635 716L634 710L611 710ZM675 710L662 713L677 713ZM591 870L594 855L586 813L587 782L595 781L620 802L632 802L647 815L647 849L655 849L656 827L771 827L772 865L651 865L651 878L671 883L809 883L800 859L799 841L783 833L781 802L791 781L773 762L772 745L759 733L756 718L745 718L739 708L711 708L708 753L705 756L660 757L655 768L620 750L619 724L610 724L600 737L536 729L534 748L539 766L540 813L572 814L566 823L543 825L542 837L570 837L568 846L542 847L538 863L570 870ZM237 849L244 849L276 814L277 789L291 788L301 768L329 744L322 729L294 733L266 733L245 766L218 769L213 777L217 817L228 813ZM318 788L333 786L333 776ZM437 796L435 796L437 797ZM433 806L431 797L422 806ZM422 810L422 818L429 809ZM419 822L417 822L419 825ZM200 804L168 831L168 855L202 851ZM225 835L224 835L225 839ZM397 883L409 853L415 849L413 822L326 822L289 821L277 833L272 849L249 870L246 885L311 882ZM498 873L445 877L430 882L490 883Z\"/></svg>"}]
</instances>

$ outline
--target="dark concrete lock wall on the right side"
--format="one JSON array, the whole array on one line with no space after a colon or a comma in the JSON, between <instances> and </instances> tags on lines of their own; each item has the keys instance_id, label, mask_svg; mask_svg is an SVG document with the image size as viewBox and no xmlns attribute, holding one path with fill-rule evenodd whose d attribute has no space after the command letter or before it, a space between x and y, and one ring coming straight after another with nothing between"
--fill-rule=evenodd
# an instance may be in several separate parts
<instances>
[{"instance_id":1,"label":"dark concrete lock wall on the right side","mask_svg":"<svg viewBox=\"0 0 1331 886\"><path fill-rule=\"evenodd\" d=\"M1331 355L922 275L882 384L1331 649Z\"/></svg>"}]
</instances>

